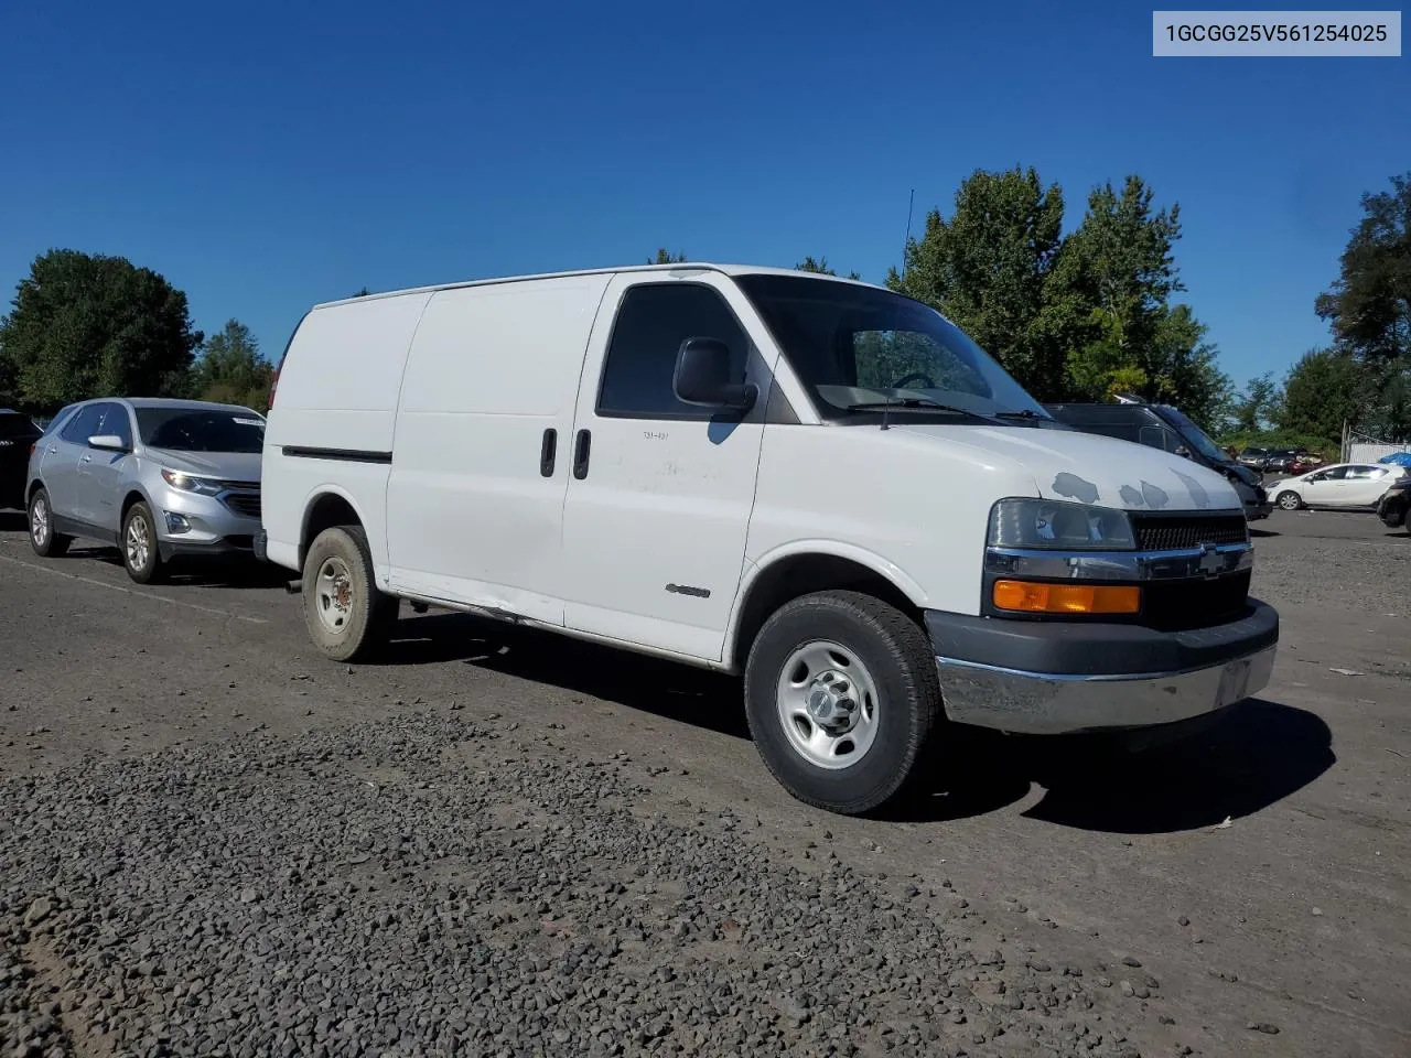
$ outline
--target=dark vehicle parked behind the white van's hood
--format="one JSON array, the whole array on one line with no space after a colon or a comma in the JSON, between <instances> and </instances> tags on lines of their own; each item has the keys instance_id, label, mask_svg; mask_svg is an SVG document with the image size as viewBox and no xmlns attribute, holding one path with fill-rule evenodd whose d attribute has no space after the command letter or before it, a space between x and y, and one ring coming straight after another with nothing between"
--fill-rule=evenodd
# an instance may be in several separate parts
<instances>
[{"instance_id":1,"label":"dark vehicle parked behind the white van's hood","mask_svg":"<svg viewBox=\"0 0 1411 1058\"><path fill-rule=\"evenodd\" d=\"M1164 403L1050 403L1044 405L1058 422L1084 433L1147 444L1223 474L1245 502L1245 518L1257 522L1268 518L1273 504L1260 484L1259 474L1232 460L1209 436L1180 409ZM1246 451L1250 451L1246 449Z\"/></svg>"}]
</instances>

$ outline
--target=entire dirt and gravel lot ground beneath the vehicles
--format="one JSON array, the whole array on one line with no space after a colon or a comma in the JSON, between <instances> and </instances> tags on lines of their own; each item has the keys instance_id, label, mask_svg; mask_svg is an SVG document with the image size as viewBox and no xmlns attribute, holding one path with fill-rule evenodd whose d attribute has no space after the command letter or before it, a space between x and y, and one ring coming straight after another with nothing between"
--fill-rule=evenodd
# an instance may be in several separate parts
<instances>
[{"instance_id":1,"label":"entire dirt and gravel lot ground beneath the vehicles","mask_svg":"<svg viewBox=\"0 0 1411 1058\"><path fill-rule=\"evenodd\" d=\"M0 513L0 1055L1411 1055L1411 539L1264 526L1260 700L856 821L728 680L409 612L333 666Z\"/></svg>"}]
</instances>

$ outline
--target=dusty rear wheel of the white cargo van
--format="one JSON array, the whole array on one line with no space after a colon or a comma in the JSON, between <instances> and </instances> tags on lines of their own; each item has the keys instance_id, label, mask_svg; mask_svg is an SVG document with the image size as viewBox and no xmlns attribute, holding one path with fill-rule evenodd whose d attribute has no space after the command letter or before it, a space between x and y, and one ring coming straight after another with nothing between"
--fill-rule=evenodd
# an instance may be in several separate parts
<instances>
[{"instance_id":1,"label":"dusty rear wheel of the white cargo van","mask_svg":"<svg viewBox=\"0 0 1411 1058\"><path fill-rule=\"evenodd\" d=\"M346 611L337 612L343 587L320 594L320 577L326 573L346 587ZM370 657L387 642L401 605L398 598L377 590L367 535L356 525L325 529L309 545L303 557L302 598L309 638L334 662ZM330 615L327 621L325 615Z\"/></svg>"}]
</instances>

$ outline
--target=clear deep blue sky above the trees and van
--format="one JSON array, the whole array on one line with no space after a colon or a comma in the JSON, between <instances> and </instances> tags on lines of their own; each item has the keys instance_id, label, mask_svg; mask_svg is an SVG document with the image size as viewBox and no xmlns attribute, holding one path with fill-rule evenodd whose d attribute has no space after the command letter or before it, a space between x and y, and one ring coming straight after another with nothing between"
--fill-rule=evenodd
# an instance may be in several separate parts
<instances>
[{"instance_id":1,"label":"clear deep blue sky above the trees and van","mask_svg":"<svg viewBox=\"0 0 1411 1058\"><path fill-rule=\"evenodd\" d=\"M1139 172L1180 202L1226 371L1326 339L1359 196L1411 169L1391 59L1156 59L1125 4L8 4L0 289L121 254L277 358L364 284L827 255L880 281L907 193L1033 165L1068 226Z\"/></svg>"}]
</instances>

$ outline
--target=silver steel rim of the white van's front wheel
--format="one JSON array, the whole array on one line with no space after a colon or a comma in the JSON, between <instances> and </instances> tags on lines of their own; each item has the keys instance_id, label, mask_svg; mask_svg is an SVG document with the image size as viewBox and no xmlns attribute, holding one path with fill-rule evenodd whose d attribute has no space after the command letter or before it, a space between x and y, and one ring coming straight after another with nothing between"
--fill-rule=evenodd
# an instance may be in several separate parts
<instances>
[{"instance_id":1,"label":"silver steel rim of the white van's front wheel","mask_svg":"<svg viewBox=\"0 0 1411 1058\"><path fill-rule=\"evenodd\" d=\"M856 767L876 741L876 680L841 643L817 639L796 647L779 673L775 703L790 748L814 767Z\"/></svg>"}]
</instances>

